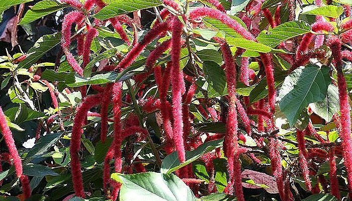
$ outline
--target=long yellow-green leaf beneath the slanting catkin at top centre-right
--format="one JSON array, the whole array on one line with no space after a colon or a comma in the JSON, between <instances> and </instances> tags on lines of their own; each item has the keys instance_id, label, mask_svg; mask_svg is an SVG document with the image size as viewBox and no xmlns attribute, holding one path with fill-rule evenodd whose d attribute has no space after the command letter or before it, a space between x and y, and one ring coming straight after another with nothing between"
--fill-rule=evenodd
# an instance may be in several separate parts
<instances>
[{"instance_id":1,"label":"long yellow-green leaf beneath the slanting catkin at top centre-right","mask_svg":"<svg viewBox=\"0 0 352 201\"><path fill-rule=\"evenodd\" d=\"M231 16L231 17L233 17L233 16ZM207 27L209 27L213 30L222 31L225 34L225 39L229 45L233 45L236 47L240 47L243 49L252 50L252 51L256 51L256 52L270 52L270 51L272 51L272 48L270 48L266 45L263 45L263 44L260 44L260 43L254 42L254 41L250 41L250 40L243 38L236 31L234 31L233 29L231 29L230 27L228 27L227 25L222 23L220 20L211 19L211 18L204 18L203 22Z\"/></svg>"}]
</instances>

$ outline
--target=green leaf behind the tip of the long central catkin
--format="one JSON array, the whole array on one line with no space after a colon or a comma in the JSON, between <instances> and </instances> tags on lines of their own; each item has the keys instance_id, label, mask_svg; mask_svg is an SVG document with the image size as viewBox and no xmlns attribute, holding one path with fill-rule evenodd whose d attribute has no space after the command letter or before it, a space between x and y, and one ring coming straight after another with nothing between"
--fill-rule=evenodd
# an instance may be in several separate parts
<instances>
[{"instance_id":1,"label":"green leaf behind the tip of the long central catkin","mask_svg":"<svg viewBox=\"0 0 352 201\"><path fill-rule=\"evenodd\" d=\"M160 172L161 173L171 173L177 169L180 169L193 161L197 160L203 154L208 153L215 148L222 146L223 139L209 141L203 143L197 149L193 151L186 152L186 161L181 163L179 160L179 156L177 152L172 152L171 154L167 155L161 163Z\"/></svg>"}]
</instances>

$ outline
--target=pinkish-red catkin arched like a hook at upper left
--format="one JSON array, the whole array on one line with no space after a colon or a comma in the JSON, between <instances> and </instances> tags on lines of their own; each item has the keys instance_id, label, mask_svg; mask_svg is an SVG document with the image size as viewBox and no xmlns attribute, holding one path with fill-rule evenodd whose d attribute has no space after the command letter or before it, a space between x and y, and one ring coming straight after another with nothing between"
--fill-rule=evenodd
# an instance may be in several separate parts
<instances>
[{"instance_id":1,"label":"pinkish-red catkin arched like a hook at upper left","mask_svg":"<svg viewBox=\"0 0 352 201\"><path fill-rule=\"evenodd\" d=\"M62 38L61 38L61 47L63 52L66 55L67 62L73 68L75 72L79 75L83 75L82 68L78 65L77 61L74 59L72 53L69 50L69 46L71 44L71 26L72 24L79 23L83 19L84 15L82 12L72 11L65 15L62 23Z\"/></svg>"}]
</instances>

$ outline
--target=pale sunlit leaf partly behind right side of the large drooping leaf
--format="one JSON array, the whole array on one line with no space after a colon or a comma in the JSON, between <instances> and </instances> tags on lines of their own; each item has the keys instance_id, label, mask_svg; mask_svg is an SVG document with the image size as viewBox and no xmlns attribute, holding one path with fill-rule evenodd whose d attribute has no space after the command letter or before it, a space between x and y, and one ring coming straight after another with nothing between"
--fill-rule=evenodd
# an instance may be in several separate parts
<instances>
[{"instance_id":1,"label":"pale sunlit leaf partly behind right side of the large drooping leaf","mask_svg":"<svg viewBox=\"0 0 352 201\"><path fill-rule=\"evenodd\" d=\"M312 111L326 122L330 122L332 116L340 110L338 99L338 88L333 84L329 84L325 99L317 103L309 104Z\"/></svg>"}]
</instances>

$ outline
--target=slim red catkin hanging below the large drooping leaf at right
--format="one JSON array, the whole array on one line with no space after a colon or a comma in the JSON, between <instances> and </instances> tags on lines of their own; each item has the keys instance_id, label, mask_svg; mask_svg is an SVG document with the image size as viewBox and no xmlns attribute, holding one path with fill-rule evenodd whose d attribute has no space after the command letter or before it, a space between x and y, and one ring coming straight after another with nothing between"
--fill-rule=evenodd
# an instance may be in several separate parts
<instances>
[{"instance_id":1,"label":"slim red catkin hanging below the large drooping leaf at right","mask_svg":"<svg viewBox=\"0 0 352 201\"><path fill-rule=\"evenodd\" d=\"M304 181L306 183L307 190L311 191L312 190L312 184L309 179L309 170L308 170L308 164L307 164L307 150L306 150L306 145L305 145L305 140L304 140L304 133L303 131L296 129L297 133L297 142L298 142L298 149L299 149L299 163L301 166L302 174Z\"/></svg>"}]
</instances>

